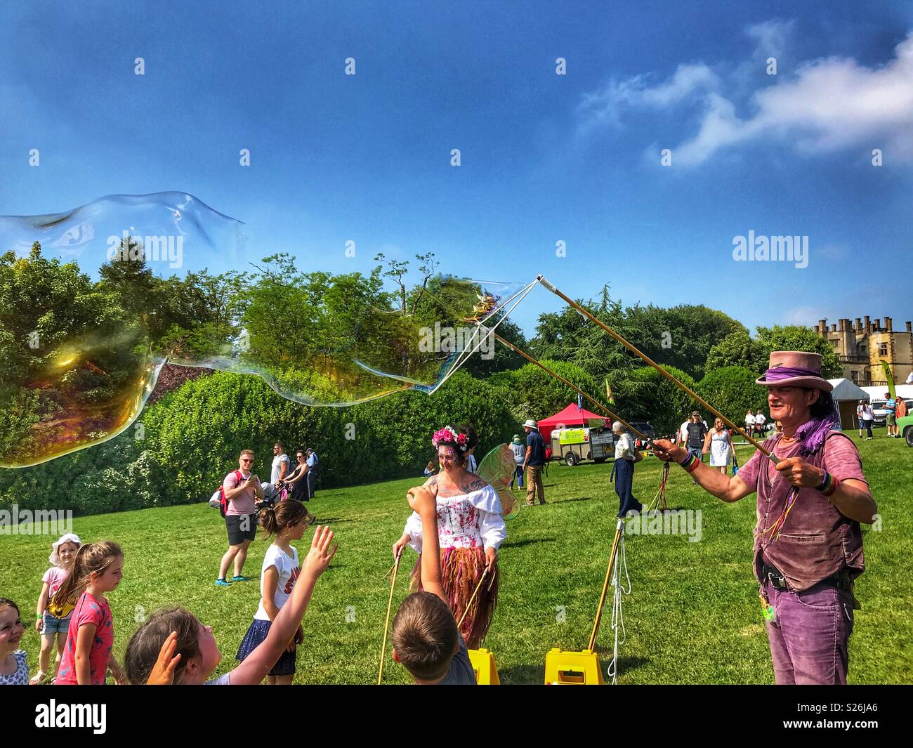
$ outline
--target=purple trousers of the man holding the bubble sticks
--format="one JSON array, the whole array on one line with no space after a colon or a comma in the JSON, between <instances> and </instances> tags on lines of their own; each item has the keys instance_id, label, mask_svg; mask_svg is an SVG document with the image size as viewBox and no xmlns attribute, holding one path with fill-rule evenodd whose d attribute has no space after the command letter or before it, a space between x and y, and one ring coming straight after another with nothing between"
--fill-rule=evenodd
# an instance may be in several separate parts
<instances>
[{"instance_id":1,"label":"purple trousers of the man holding the bubble sticks","mask_svg":"<svg viewBox=\"0 0 913 748\"><path fill-rule=\"evenodd\" d=\"M777 685L845 686L853 596L831 584L789 592L768 581L761 590L773 606L766 623Z\"/></svg>"}]
</instances>

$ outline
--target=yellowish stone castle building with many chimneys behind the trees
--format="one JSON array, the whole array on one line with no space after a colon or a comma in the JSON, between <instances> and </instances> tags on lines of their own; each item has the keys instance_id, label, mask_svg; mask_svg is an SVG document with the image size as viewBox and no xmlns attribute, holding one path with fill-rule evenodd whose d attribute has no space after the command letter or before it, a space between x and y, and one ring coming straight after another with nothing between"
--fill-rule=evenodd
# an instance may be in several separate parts
<instances>
[{"instance_id":1,"label":"yellowish stone castle building with many chimneys behind the trees","mask_svg":"<svg viewBox=\"0 0 913 748\"><path fill-rule=\"evenodd\" d=\"M814 331L834 346L834 353L844 366L844 376L860 387L887 385L881 361L891 366L894 382L902 385L913 371L913 329L907 322L905 331L894 330L890 317L865 322L859 317L837 321L827 329L827 320L819 320Z\"/></svg>"}]
</instances>

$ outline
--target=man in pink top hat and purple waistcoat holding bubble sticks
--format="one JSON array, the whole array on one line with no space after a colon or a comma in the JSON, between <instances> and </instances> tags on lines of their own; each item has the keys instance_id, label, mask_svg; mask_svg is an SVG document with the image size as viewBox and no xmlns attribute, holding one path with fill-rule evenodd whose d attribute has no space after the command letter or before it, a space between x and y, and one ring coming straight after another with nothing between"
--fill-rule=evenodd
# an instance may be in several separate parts
<instances>
[{"instance_id":1,"label":"man in pink top hat and purple waistcoat holding bubble sticks","mask_svg":"<svg viewBox=\"0 0 913 748\"><path fill-rule=\"evenodd\" d=\"M862 461L837 430L833 386L821 356L775 351L757 380L767 387L771 420L782 434L729 478L672 442L654 453L673 460L708 493L738 501L758 493L754 571L778 684L845 684L853 632L853 582L865 570L860 522L877 511Z\"/></svg>"}]
</instances>

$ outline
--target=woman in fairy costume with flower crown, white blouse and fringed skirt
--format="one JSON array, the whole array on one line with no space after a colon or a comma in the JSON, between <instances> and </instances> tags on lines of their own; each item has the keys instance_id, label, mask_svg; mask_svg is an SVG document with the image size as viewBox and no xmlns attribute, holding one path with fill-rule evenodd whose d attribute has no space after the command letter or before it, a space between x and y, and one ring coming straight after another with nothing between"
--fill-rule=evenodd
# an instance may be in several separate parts
<instances>
[{"instance_id":1,"label":"woman in fairy costume with flower crown, white blouse and fringed skirt","mask_svg":"<svg viewBox=\"0 0 913 748\"><path fill-rule=\"evenodd\" d=\"M498 602L498 546L507 537L498 491L467 472L466 457L477 444L470 427L444 427L431 440L441 470L425 481L437 497L437 533L441 548L441 582L467 648L475 649L488 633ZM394 543L394 557L408 543L422 553L422 521L413 512L403 537ZM413 587L420 581L421 557L415 564ZM467 606L482 576L472 606Z\"/></svg>"}]
</instances>

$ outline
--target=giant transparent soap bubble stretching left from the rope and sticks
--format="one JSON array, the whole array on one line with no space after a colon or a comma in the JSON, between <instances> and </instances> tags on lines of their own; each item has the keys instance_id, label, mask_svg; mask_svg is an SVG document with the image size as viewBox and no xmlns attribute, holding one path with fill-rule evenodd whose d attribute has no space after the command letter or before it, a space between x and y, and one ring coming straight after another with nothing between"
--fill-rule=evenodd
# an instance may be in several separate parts
<instances>
[{"instance_id":1,"label":"giant transparent soap bubble stretching left from the rope and sticks","mask_svg":"<svg viewBox=\"0 0 913 748\"><path fill-rule=\"evenodd\" d=\"M490 352L531 287L442 275L428 258L408 273L309 272L308 258L250 248L243 226L173 192L0 216L0 466L121 433L166 361L254 374L312 406L434 392Z\"/></svg>"}]
</instances>

